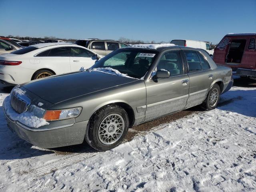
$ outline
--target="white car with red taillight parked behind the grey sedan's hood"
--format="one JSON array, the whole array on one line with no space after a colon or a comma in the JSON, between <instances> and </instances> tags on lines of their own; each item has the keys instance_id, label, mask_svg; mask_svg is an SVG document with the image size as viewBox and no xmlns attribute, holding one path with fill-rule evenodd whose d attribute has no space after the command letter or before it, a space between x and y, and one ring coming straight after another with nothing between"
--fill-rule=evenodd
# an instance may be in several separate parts
<instances>
[{"instance_id":1,"label":"white car with red taillight parked behind the grey sedan's hood","mask_svg":"<svg viewBox=\"0 0 256 192\"><path fill-rule=\"evenodd\" d=\"M0 56L0 82L16 85L90 68L103 56L76 44L42 43Z\"/></svg>"}]
</instances>

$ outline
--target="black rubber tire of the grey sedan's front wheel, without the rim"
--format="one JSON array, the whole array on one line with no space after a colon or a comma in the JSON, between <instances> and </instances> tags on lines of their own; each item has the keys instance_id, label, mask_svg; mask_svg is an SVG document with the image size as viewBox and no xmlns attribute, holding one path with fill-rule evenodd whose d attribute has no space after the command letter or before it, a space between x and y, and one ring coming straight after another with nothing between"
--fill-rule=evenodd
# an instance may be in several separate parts
<instances>
[{"instance_id":1,"label":"black rubber tire of the grey sedan's front wheel, without the rim","mask_svg":"<svg viewBox=\"0 0 256 192\"><path fill-rule=\"evenodd\" d=\"M123 123L124 129L123 129L122 135L116 142L114 142L112 144L104 144L100 140L98 131L99 131L100 124L102 123L102 121L107 116L110 116L111 114L118 114L119 116L122 117L123 122L124 122ZM105 107L101 108L100 110L98 110L92 116L92 118L90 118L90 120L88 122L88 126L86 128L86 134L85 134L84 138L85 138L86 142L92 148L99 150L99 151L106 151L106 150L110 150L110 149L118 146L120 143L122 143L122 141L124 140L124 138L128 132L128 127L129 127L129 118L128 118L126 111L123 108L121 108L120 106L108 105L108 106L105 106Z\"/></svg>"}]
</instances>

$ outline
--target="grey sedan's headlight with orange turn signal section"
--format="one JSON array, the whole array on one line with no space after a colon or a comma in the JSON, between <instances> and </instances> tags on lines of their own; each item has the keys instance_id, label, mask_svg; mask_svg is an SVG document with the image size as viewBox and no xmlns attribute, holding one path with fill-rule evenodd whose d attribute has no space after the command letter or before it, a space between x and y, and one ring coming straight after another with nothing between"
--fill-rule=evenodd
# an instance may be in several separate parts
<instances>
[{"instance_id":1,"label":"grey sedan's headlight with orange turn signal section","mask_svg":"<svg viewBox=\"0 0 256 192\"><path fill-rule=\"evenodd\" d=\"M56 121L63 119L76 118L80 115L82 107L62 109L62 110L46 110L44 119L46 121Z\"/></svg>"}]
</instances>

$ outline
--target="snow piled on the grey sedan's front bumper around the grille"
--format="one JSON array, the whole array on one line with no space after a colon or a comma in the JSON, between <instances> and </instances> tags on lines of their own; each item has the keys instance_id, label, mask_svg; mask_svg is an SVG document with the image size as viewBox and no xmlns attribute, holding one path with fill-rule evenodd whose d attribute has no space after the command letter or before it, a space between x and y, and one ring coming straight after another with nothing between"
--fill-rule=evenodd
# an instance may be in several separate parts
<instances>
[{"instance_id":1,"label":"snow piled on the grey sedan's front bumper around the grille","mask_svg":"<svg viewBox=\"0 0 256 192\"><path fill-rule=\"evenodd\" d=\"M48 125L49 123L43 119L43 118L39 118L38 116L36 116L36 114L42 114L44 109L42 108L38 108L34 105L31 105L30 108L32 108L33 112L23 112L21 114L16 113L12 106L11 106L11 102L10 102L10 96L7 96L4 99L3 102L3 106L4 106L4 111L6 113L6 115L13 121L18 121L28 127L31 128L38 128L44 125Z\"/></svg>"}]
</instances>

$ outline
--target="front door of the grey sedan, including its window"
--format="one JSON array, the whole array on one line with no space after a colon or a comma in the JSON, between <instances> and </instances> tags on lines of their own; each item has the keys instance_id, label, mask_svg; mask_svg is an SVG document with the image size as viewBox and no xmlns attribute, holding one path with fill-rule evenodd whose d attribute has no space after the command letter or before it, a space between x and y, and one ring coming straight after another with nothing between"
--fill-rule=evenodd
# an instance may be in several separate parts
<instances>
[{"instance_id":1,"label":"front door of the grey sedan, including its window","mask_svg":"<svg viewBox=\"0 0 256 192\"><path fill-rule=\"evenodd\" d=\"M157 70L168 70L170 77L157 78ZM146 118L152 120L185 108L188 100L189 77L181 57L180 49L164 52L146 81Z\"/></svg>"}]
</instances>

